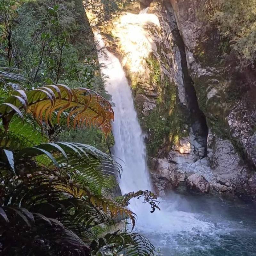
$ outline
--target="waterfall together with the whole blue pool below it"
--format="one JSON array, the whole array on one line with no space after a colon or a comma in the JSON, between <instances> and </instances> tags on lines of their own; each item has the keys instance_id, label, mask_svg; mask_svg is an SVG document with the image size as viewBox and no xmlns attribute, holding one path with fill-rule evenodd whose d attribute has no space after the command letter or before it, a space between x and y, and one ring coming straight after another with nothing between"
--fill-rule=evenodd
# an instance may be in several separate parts
<instances>
[{"instance_id":1,"label":"waterfall together with the whole blue pool below it","mask_svg":"<svg viewBox=\"0 0 256 256\"><path fill-rule=\"evenodd\" d=\"M101 72L108 76L106 89L115 103L112 154L122 164L122 193L151 189L144 136L133 106L131 89L119 60L99 41ZM123 162L118 160L122 159ZM133 200L138 215L136 231L145 234L163 256L254 256L256 255L256 209L218 197L172 194L161 199L161 211Z\"/></svg>"}]
</instances>

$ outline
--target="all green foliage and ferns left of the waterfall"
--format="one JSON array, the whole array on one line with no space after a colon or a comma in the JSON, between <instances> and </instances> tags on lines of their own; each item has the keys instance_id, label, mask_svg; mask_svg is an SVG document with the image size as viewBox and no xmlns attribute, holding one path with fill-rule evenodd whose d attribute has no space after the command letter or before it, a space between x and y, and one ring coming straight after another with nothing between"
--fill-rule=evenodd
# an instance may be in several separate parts
<instances>
[{"instance_id":1,"label":"all green foliage and ferns left of the waterfall","mask_svg":"<svg viewBox=\"0 0 256 256\"><path fill-rule=\"evenodd\" d=\"M82 1L2 0L0 18L0 254L154 254L140 234L106 234L117 218L133 228L131 198L158 202L112 198L122 168L93 146L113 145L114 113Z\"/></svg>"}]
</instances>

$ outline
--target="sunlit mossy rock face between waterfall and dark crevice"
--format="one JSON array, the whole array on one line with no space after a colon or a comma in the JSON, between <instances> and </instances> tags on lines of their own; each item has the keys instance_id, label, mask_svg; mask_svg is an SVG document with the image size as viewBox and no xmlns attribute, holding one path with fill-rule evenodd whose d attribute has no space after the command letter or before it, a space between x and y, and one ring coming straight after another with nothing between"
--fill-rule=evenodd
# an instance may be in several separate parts
<instances>
[{"instance_id":1,"label":"sunlit mossy rock face between waterfall and dark crevice","mask_svg":"<svg viewBox=\"0 0 256 256\"><path fill-rule=\"evenodd\" d=\"M154 2L148 9L148 20L138 15L139 10L124 12L102 28L108 49L119 57L131 85L151 157L164 157L189 134L175 81L174 45L171 36L165 37L170 31L165 30L168 26L162 26L161 11L161 3Z\"/></svg>"}]
</instances>

